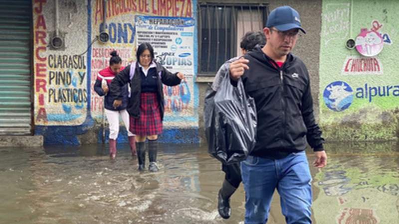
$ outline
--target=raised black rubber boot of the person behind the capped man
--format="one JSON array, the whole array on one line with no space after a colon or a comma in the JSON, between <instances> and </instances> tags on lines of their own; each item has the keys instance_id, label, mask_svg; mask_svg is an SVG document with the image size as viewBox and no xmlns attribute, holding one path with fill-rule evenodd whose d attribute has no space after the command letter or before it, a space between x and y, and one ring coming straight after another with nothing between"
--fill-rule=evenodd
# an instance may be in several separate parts
<instances>
[{"instance_id":1,"label":"raised black rubber boot of the person behind the capped man","mask_svg":"<svg viewBox=\"0 0 399 224\"><path fill-rule=\"evenodd\" d=\"M228 219L231 216L230 197L234 194L235 190L237 188L224 180L217 194L217 211L223 219Z\"/></svg>"}]
</instances>

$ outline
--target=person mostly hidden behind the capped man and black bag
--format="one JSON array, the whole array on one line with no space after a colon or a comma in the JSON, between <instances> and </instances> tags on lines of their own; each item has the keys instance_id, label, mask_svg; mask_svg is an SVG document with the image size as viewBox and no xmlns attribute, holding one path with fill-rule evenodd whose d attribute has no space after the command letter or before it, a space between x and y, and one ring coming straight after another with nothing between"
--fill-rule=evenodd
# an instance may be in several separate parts
<instances>
[{"instance_id":1,"label":"person mostly hidden behind the capped man and black bag","mask_svg":"<svg viewBox=\"0 0 399 224\"><path fill-rule=\"evenodd\" d=\"M248 51L251 51L256 45L263 46L265 43L266 38L263 32L246 32L240 42L241 52L242 54L246 54ZM223 63L223 65L219 68L211 86L213 91L217 92L220 82L224 79L224 77L227 76L229 64L238 59L239 57L231 58L230 60ZM223 219L228 219L231 216L230 197L234 194L242 181L240 164L222 164L222 170L226 175L224 176L222 187L217 194L217 211Z\"/></svg>"}]
</instances>

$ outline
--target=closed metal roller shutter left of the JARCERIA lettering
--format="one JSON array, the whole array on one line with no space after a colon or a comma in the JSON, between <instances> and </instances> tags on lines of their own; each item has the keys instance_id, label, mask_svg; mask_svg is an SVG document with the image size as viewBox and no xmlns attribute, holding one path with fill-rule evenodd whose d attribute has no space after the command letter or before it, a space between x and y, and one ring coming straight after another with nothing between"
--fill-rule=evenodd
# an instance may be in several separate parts
<instances>
[{"instance_id":1,"label":"closed metal roller shutter left of the JARCERIA lettering","mask_svg":"<svg viewBox=\"0 0 399 224\"><path fill-rule=\"evenodd\" d=\"M31 23L31 0L0 0L0 135L32 133Z\"/></svg>"}]
</instances>

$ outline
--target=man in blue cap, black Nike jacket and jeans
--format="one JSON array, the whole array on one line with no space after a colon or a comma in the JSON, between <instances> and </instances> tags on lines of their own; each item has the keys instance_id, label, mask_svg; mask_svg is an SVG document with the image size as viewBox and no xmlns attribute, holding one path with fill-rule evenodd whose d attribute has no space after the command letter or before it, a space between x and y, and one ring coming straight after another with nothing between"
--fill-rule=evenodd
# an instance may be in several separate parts
<instances>
[{"instance_id":1,"label":"man in blue cap, black Nike jacket and jeans","mask_svg":"<svg viewBox=\"0 0 399 224\"><path fill-rule=\"evenodd\" d=\"M326 166L327 155L313 114L308 70L290 53L299 31L306 33L295 9L274 9L263 29L266 45L229 67L232 84L241 78L254 98L258 117L255 148L241 162L245 224L267 222L275 189L287 224L312 223L306 140L315 153L315 167Z\"/></svg>"}]
</instances>

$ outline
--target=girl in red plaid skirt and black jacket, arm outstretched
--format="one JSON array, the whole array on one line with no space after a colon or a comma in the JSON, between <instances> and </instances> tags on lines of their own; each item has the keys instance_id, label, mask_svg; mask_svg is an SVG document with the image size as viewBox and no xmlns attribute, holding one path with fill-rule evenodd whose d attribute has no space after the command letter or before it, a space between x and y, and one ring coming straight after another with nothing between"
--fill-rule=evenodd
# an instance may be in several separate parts
<instances>
[{"instance_id":1,"label":"girl in red plaid skirt and black jacket, arm outstretched","mask_svg":"<svg viewBox=\"0 0 399 224\"><path fill-rule=\"evenodd\" d=\"M154 61L154 49L149 43L139 45L137 62L126 66L111 83L111 93L116 98L113 106L122 104L121 87L130 85L131 95L127 111L130 114L130 131L136 134L136 147L139 170L145 169L145 140L148 139L149 170L156 172L158 135L162 133L164 118L164 93L162 84L179 85L184 79L183 73L172 74Z\"/></svg>"}]
</instances>

